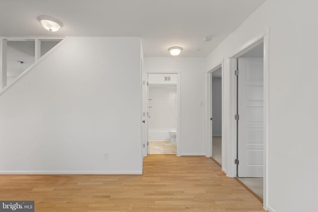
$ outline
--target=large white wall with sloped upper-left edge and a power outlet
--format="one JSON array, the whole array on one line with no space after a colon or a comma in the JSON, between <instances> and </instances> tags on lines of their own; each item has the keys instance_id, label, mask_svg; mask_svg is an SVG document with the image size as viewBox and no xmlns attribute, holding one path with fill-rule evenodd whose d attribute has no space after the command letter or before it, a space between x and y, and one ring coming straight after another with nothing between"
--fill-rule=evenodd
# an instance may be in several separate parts
<instances>
[{"instance_id":1,"label":"large white wall with sloped upper-left edge and a power outlet","mask_svg":"<svg viewBox=\"0 0 318 212\"><path fill-rule=\"evenodd\" d=\"M0 173L141 174L140 57L139 38L73 37L2 93Z\"/></svg>"}]
</instances>

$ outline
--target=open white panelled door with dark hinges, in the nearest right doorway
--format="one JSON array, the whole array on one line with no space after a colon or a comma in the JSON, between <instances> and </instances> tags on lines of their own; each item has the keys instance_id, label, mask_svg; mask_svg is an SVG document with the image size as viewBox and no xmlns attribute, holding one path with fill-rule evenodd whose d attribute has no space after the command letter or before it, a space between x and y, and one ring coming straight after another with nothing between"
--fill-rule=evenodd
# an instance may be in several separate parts
<instances>
[{"instance_id":1,"label":"open white panelled door with dark hinges, in the nearest right doorway","mask_svg":"<svg viewBox=\"0 0 318 212\"><path fill-rule=\"evenodd\" d=\"M263 177L263 58L239 58L239 177Z\"/></svg>"}]
</instances>

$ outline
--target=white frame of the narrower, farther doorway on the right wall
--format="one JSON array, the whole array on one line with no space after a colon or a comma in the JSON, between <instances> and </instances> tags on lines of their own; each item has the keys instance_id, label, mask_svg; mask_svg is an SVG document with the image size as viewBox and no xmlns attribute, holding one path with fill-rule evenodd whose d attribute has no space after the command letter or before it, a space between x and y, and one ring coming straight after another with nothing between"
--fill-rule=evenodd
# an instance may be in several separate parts
<instances>
[{"instance_id":1,"label":"white frame of the narrower, farther doorway on the right wall","mask_svg":"<svg viewBox=\"0 0 318 212\"><path fill-rule=\"evenodd\" d=\"M212 122L211 122L211 117L213 117L212 114L212 73L213 71L216 71L221 68L222 72L222 136L224 136L224 93L223 93L223 88L224 88L224 60L220 61L218 65L216 65L213 69L206 71L206 96L205 100L207 102L207 107L205 111L205 155L206 157L212 157ZM223 155L226 155L224 150L225 146L225 140L222 138L222 171L226 173L226 170L223 167L223 164L225 163L226 157Z\"/></svg>"}]
</instances>

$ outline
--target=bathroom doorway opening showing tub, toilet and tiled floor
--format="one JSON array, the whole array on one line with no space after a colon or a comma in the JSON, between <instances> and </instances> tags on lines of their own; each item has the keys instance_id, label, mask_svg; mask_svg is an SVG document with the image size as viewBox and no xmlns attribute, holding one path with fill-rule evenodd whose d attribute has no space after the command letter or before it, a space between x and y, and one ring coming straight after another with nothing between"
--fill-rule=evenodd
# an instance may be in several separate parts
<instances>
[{"instance_id":1,"label":"bathroom doorway opening showing tub, toilet and tiled floor","mask_svg":"<svg viewBox=\"0 0 318 212\"><path fill-rule=\"evenodd\" d=\"M149 73L147 97L148 154L177 154L177 74Z\"/></svg>"}]
</instances>

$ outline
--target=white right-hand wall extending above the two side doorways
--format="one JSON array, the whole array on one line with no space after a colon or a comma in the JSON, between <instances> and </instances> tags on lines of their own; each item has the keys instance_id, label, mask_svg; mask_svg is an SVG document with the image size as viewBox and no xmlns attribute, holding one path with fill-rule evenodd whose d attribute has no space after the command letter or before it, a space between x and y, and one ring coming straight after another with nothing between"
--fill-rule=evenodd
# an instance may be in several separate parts
<instances>
[{"instance_id":1,"label":"white right-hand wall extending above the two side doorways","mask_svg":"<svg viewBox=\"0 0 318 212\"><path fill-rule=\"evenodd\" d=\"M207 57L209 70L270 28L271 212L317 211L317 8L316 0L266 0Z\"/></svg>"}]
</instances>

